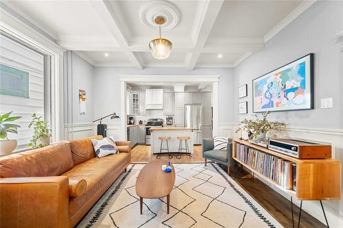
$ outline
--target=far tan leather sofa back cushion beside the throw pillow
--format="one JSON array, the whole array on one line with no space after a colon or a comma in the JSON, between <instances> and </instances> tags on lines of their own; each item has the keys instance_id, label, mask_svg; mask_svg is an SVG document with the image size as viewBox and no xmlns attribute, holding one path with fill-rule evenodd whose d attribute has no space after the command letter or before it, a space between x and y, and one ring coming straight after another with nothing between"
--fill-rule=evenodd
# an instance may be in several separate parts
<instances>
[{"instance_id":1,"label":"far tan leather sofa back cushion beside the throw pillow","mask_svg":"<svg viewBox=\"0 0 343 228\"><path fill-rule=\"evenodd\" d=\"M91 138L102 139L102 136L92 136L70 141L71 154L75 166L95 157Z\"/></svg>"}]
</instances>

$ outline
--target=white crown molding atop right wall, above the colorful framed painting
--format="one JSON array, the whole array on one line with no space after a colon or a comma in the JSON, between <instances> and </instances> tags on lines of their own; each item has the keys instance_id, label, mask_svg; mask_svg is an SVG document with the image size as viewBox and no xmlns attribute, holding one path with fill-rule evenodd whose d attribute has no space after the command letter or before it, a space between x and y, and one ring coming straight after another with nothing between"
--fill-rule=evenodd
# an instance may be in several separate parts
<instances>
[{"instance_id":1,"label":"white crown molding atop right wall, above the colorful framed painting","mask_svg":"<svg viewBox=\"0 0 343 228\"><path fill-rule=\"evenodd\" d=\"M292 12L290 12L285 18L283 18L276 26L274 26L267 34L264 35L264 42L268 42L282 29L284 29L289 23L294 21L300 14L303 14L308 8L311 7L317 0L302 1Z\"/></svg>"}]
</instances>

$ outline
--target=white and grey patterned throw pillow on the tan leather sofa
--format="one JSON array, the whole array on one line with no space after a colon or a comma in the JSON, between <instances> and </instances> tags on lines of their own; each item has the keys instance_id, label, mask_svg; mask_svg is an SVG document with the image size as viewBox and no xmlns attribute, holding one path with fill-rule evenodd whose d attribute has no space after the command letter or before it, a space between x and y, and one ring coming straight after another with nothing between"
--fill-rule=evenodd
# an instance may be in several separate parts
<instances>
[{"instance_id":1,"label":"white and grey patterned throw pillow on the tan leather sofa","mask_svg":"<svg viewBox=\"0 0 343 228\"><path fill-rule=\"evenodd\" d=\"M102 139L92 138L93 147L95 150L95 155L99 157L105 157L110 154L119 153L115 140L112 136Z\"/></svg>"}]
</instances>

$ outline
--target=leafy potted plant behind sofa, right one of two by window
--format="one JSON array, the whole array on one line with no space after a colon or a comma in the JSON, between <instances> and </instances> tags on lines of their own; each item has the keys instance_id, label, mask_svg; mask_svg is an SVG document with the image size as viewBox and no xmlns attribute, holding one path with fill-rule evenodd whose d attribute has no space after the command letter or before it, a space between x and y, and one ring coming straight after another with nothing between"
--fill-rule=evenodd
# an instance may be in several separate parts
<instances>
[{"instance_id":1,"label":"leafy potted plant behind sofa, right one of two by window","mask_svg":"<svg viewBox=\"0 0 343 228\"><path fill-rule=\"evenodd\" d=\"M32 121L29 123L29 129L33 127L34 134L30 140L29 147L32 149L46 147L50 143L51 129L49 129L48 121L42 121L36 113L32 114Z\"/></svg>"}]
</instances>

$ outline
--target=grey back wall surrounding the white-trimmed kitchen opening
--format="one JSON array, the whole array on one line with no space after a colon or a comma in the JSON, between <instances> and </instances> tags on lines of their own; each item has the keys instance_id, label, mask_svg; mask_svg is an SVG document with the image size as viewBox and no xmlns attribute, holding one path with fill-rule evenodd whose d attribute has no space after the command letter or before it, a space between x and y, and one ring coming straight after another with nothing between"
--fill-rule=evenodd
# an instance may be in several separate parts
<instances>
[{"instance_id":1,"label":"grey back wall surrounding the white-trimmed kitchen opening","mask_svg":"<svg viewBox=\"0 0 343 228\"><path fill-rule=\"evenodd\" d=\"M120 75L220 75L219 82L219 122L233 122L233 70L232 68L145 68L143 71L129 67L95 67L94 68L94 116L104 116L111 112L120 113ZM224 105L222 105L224 104ZM110 121L107 119L106 121ZM113 120L113 123L119 119Z\"/></svg>"}]
</instances>

